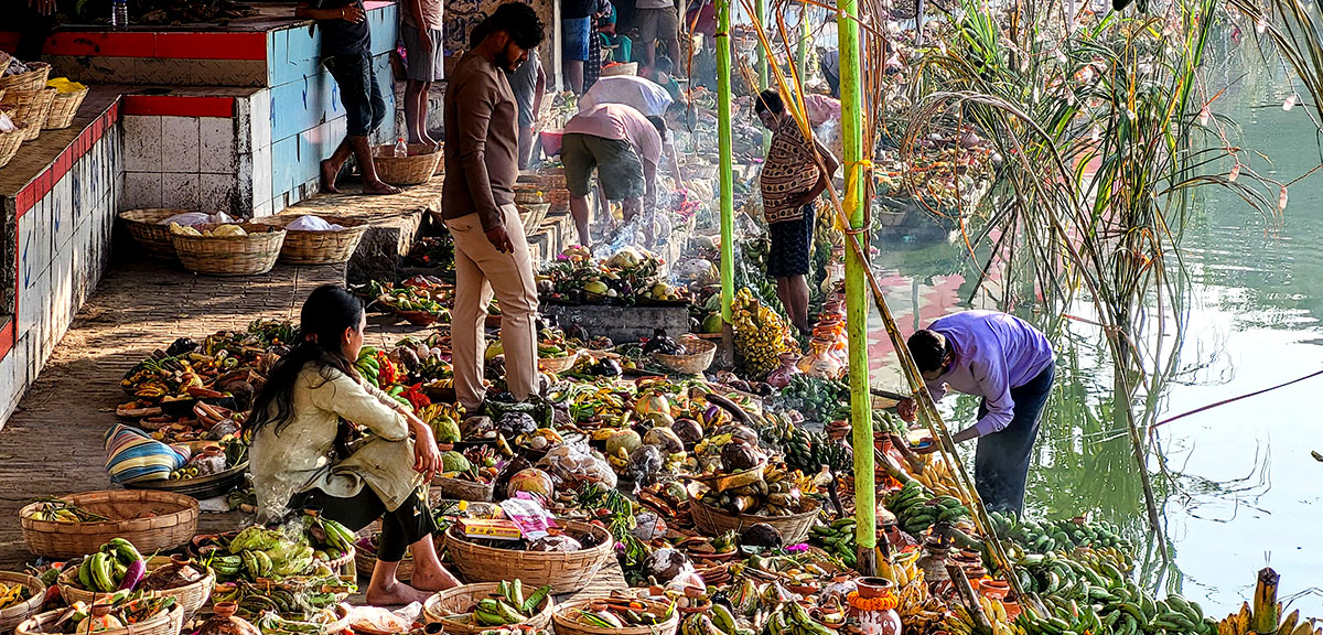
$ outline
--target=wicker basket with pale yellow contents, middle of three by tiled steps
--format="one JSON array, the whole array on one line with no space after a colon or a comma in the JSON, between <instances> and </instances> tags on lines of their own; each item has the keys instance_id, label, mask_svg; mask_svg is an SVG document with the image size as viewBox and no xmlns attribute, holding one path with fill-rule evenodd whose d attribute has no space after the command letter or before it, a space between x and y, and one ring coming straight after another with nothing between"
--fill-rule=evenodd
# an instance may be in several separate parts
<instances>
[{"instance_id":1,"label":"wicker basket with pale yellow contents, middle of three by tiled steps","mask_svg":"<svg viewBox=\"0 0 1323 635\"><path fill-rule=\"evenodd\" d=\"M200 232L218 225L197 228ZM275 266L284 230L270 225L241 225L246 235L171 234L184 269L210 275L258 275Z\"/></svg>"}]
</instances>

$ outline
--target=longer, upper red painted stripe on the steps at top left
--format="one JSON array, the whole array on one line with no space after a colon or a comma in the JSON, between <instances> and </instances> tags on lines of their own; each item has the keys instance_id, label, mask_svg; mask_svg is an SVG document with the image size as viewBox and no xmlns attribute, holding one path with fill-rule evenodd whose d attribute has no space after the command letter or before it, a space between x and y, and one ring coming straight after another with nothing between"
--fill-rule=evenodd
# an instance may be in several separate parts
<instances>
[{"instance_id":1,"label":"longer, upper red painted stripe on the steps at top left","mask_svg":"<svg viewBox=\"0 0 1323 635\"><path fill-rule=\"evenodd\" d=\"M60 32L48 56L151 57L160 60L266 60L266 33Z\"/></svg>"}]
</instances>

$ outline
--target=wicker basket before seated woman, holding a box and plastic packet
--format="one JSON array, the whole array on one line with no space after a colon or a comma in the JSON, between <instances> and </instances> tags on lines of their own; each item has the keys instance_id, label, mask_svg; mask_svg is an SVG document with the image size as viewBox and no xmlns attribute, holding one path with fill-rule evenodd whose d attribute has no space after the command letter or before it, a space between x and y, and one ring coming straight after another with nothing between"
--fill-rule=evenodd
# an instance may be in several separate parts
<instances>
[{"instance_id":1,"label":"wicker basket before seated woman, holding a box and plastic packet","mask_svg":"<svg viewBox=\"0 0 1323 635\"><path fill-rule=\"evenodd\" d=\"M556 593L574 593L587 586L597 572L614 557L615 541L606 529L597 525L566 521L564 527L577 533L591 532L602 538L602 544L570 553L517 552L470 542L455 527L446 532L445 544L460 577L468 582L520 578L525 586L552 585Z\"/></svg>"}]
</instances>

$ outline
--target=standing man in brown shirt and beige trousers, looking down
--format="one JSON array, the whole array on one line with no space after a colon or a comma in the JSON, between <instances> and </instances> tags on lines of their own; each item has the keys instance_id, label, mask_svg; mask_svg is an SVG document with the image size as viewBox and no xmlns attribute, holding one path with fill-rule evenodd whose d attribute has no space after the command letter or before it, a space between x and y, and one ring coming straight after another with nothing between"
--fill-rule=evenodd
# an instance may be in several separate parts
<instances>
[{"instance_id":1,"label":"standing man in brown shirt and beige trousers, looking down","mask_svg":"<svg viewBox=\"0 0 1323 635\"><path fill-rule=\"evenodd\" d=\"M446 87L446 183L442 217L455 241L455 312L451 323L455 392L476 410L483 386L483 323L492 295L500 302L505 384L519 401L537 389L533 314L537 286L524 226L515 209L519 176L519 106L505 71L541 44L542 24L519 1L496 8L486 36L459 60Z\"/></svg>"}]
</instances>

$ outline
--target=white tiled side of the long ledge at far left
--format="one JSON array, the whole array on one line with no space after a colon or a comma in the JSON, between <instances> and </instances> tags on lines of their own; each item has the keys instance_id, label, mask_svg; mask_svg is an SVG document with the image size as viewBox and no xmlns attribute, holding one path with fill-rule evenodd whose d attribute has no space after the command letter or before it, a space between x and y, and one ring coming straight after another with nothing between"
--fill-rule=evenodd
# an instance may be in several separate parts
<instances>
[{"instance_id":1,"label":"white tiled side of the long ledge at far left","mask_svg":"<svg viewBox=\"0 0 1323 635\"><path fill-rule=\"evenodd\" d=\"M16 210L17 324L15 345L0 359L0 421L36 381L110 257L122 187L119 127L110 119L83 135L86 140L74 144L82 153L71 159L50 190L26 210Z\"/></svg>"}]
</instances>

